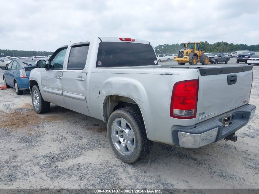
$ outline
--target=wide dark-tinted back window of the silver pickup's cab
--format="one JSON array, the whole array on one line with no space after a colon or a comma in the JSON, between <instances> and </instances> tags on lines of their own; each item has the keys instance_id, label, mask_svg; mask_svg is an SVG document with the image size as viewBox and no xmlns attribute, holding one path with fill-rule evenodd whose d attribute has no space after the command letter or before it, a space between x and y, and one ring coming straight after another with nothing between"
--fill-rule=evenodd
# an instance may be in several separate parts
<instances>
[{"instance_id":1,"label":"wide dark-tinted back window of the silver pickup's cab","mask_svg":"<svg viewBox=\"0 0 259 194\"><path fill-rule=\"evenodd\" d=\"M100 42L96 67L158 65L150 44Z\"/></svg>"}]
</instances>

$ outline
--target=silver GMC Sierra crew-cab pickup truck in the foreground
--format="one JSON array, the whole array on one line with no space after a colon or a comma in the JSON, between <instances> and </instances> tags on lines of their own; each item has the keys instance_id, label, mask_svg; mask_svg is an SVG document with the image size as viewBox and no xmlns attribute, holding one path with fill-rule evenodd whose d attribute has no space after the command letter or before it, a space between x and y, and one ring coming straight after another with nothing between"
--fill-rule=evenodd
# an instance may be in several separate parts
<instances>
[{"instance_id":1,"label":"silver GMC Sierra crew-cab pickup truck in the foreground","mask_svg":"<svg viewBox=\"0 0 259 194\"><path fill-rule=\"evenodd\" d=\"M107 122L124 162L153 142L198 148L235 132L255 113L252 65L161 66L149 41L95 37L58 48L36 62L29 87L37 113L56 105Z\"/></svg>"}]
</instances>

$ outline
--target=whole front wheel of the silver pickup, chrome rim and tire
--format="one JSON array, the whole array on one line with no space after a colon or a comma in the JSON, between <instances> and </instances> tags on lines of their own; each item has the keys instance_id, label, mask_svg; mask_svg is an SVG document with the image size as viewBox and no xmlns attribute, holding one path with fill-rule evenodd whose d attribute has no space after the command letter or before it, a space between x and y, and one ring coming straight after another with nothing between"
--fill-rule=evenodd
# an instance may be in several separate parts
<instances>
[{"instance_id":1,"label":"whole front wheel of the silver pickup, chrome rim and tire","mask_svg":"<svg viewBox=\"0 0 259 194\"><path fill-rule=\"evenodd\" d=\"M41 114L49 111L50 102L44 101L37 85L32 87L32 105L35 112Z\"/></svg>"}]
</instances>

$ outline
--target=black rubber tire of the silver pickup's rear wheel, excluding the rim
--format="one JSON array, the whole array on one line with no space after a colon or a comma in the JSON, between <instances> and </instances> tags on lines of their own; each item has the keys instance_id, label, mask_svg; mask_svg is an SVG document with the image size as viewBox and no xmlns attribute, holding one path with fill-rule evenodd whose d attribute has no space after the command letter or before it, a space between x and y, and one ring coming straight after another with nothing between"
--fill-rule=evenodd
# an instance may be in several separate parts
<instances>
[{"instance_id":1,"label":"black rubber tire of the silver pickup's rear wheel, excluding the rim","mask_svg":"<svg viewBox=\"0 0 259 194\"><path fill-rule=\"evenodd\" d=\"M120 153L112 140L112 124L118 118L126 120L131 126L131 130L134 132L135 148L129 155ZM112 112L107 124L107 134L113 152L118 158L127 163L134 163L145 158L150 153L153 146L153 142L147 139L142 114L135 108L120 108Z\"/></svg>"}]
</instances>

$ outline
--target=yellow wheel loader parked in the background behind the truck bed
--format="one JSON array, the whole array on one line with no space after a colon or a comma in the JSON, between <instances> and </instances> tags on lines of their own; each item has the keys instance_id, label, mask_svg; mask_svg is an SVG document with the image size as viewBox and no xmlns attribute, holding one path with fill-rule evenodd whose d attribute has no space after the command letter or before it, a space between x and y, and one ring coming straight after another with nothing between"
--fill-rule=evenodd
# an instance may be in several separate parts
<instances>
[{"instance_id":1,"label":"yellow wheel loader parked in the background behind the truck bed","mask_svg":"<svg viewBox=\"0 0 259 194\"><path fill-rule=\"evenodd\" d=\"M200 42L188 42L185 44L185 48L179 51L178 57L174 57L174 60L178 62L178 65L197 65L200 62L202 65L208 65L209 57L204 54L205 50L200 49Z\"/></svg>"}]
</instances>

